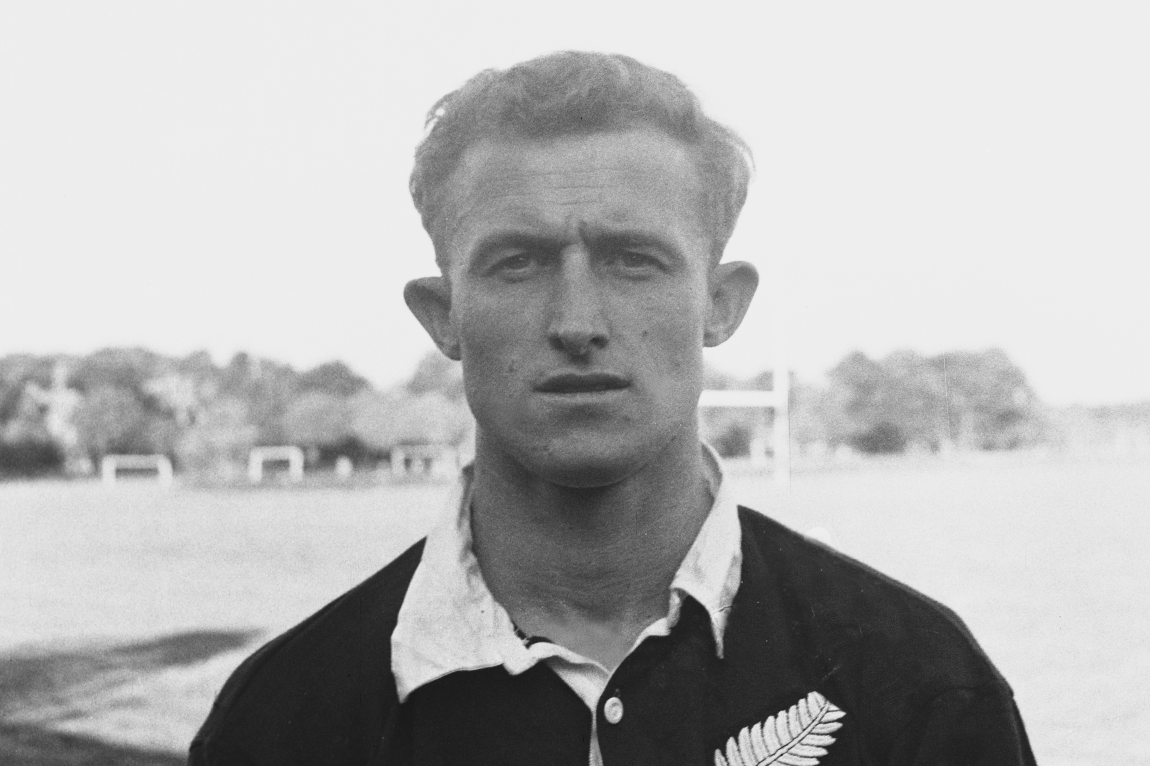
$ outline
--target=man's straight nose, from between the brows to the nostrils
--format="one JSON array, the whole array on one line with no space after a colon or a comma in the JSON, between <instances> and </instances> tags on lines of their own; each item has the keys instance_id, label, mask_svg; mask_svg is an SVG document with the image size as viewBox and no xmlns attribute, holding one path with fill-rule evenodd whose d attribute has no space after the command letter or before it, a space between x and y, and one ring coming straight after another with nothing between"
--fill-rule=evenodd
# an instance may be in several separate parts
<instances>
[{"instance_id":1,"label":"man's straight nose, from between the brows to the nostrils","mask_svg":"<svg viewBox=\"0 0 1150 766\"><path fill-rule=\"evenodd\" d=\"M568 247L560 259L552 296L547 328L551 347L584 358L593 350L604 348L607 337L607 321L590 254L583 246Z\"/></svg>"}]
</instances>

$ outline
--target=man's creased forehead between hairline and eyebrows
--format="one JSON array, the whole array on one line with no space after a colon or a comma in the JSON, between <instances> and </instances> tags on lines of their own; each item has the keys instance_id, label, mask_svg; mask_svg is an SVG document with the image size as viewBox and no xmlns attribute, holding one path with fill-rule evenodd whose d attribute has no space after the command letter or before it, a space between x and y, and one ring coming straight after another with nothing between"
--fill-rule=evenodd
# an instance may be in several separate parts
<instances>
[{"instance_id":1,"label":"man's creased forehead between hairline and eyebrows","mask_svg":"<svg viewBox=\"0 0 1150 766\"><path fill-rule=\"evenodd\" d=\"M461 158L446 202L442 238L453 262L500 230L634 232L687 248L707 239L695 155L653 130L482 141Z\"/></svg>"}]
</instances>

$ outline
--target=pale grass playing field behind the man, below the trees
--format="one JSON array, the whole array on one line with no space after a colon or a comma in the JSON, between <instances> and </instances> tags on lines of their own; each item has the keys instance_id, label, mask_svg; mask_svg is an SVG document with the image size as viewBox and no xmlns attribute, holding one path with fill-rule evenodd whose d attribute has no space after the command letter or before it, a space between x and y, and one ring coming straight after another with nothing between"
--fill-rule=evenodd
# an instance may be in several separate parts
<instances>
[{"instance_id":1,"label":"pale grass playing field behind the man, below the trees","mask_svg":"<svg viewBox=\"0 0 1150 766\"><path fill-rule=\"evenodd\" d=\"M1041 764L1150 765L1150 466L864 465L738 495L953 607ZM235 665L419 538L444 485L0 484L0 763L182 763Z\"/></svg>"}]
</instances>

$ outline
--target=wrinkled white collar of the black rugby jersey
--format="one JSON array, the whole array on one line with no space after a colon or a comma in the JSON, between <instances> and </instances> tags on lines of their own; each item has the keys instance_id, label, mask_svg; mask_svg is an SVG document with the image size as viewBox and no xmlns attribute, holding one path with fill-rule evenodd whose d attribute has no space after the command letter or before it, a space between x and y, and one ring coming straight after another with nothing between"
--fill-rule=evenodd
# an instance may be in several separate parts
<instances>
[{"instance_id":1,"label":"wrinkled white collar of the black rugby jersey","mask_svg":"<svg viewBox=\"0 0 1150 766\"><path fill-rule=\"evenodd\" d=\"M672 581L665 619L668 629L674 627L684 596L691 596L711 615L715 650L722 657L727 615L743 565L742 531L718 455L704 445L704 457L713 477L714 501ZM400 702L457 671L503 665L518 675L540 659L515 635L511 616L483 581L471 549L470 484L468 466L445 518L428 535L399 608L391 634L391 671Z\"/></svg>"}]
</instances>

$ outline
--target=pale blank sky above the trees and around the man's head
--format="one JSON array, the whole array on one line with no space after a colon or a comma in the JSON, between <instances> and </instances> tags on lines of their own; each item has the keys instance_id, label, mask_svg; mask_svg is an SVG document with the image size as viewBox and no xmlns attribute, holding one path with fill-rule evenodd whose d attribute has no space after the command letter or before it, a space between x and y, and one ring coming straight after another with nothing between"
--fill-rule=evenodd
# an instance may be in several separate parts
<instances>
[{"instance_id":1,"label":"pale blank sky above the trees and around the man's head","mask_svg":"<svg viewBox=\"0 0 1150 766\"><path fill-rule=\"evenodd\" d=\"M423 115L560 48L681 76L758 166L712 362L1004 348L1046 401L1150 399L1150 3L0 5L0 354L431 348Z\"/></svg>"}]
</instances>

